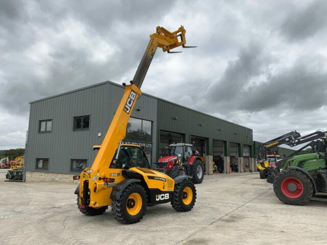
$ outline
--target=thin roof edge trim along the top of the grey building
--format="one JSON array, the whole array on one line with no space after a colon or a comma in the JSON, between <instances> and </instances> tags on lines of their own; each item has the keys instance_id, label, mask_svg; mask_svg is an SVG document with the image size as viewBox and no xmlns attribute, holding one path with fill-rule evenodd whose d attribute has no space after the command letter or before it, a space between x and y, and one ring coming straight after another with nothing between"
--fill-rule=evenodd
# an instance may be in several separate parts
<instances>
[{"instance_id":1,"label":"thin roof edge trim along the top of the grey building","mask_svg":"<svg viewBox=\"0 0 327 245\"><path fill-rule=\"evenodd\" d=\"M105 82L96 83L96 84L93 84L93 85L90 85L90 86L86 86L86 87L82 87L82 88L74 89L74 90L71 90L71 91L67 91L67 92L59 93L59 94L52 95L52 96L49 96L49 97L45 97L45 98L43 98L43 99L35 100L35 101L30 102L30 104L37 103L37 102L41 102L41 101L45 101L45 100L49 100L49 99L53 99L53 98L55 98L55 97L59 97L59 96L65 95L65 94L74 93L74 92L82 91L82 90L89 89L89 88L94 88L94 87L101 86L101 85L104 85L104 84L111 84L111 85L114 85L114 86L117 86L117 87L120 87L120 88L124 88L123 85L120 85L120 84L117 84L117 83L113 83L113 82L111 82L111 81L105 81ZM159 98L159 97L156 97L156 96L153 96L153 95L150 95L150 94L147 94L147 93L143 93L143 92L142 92L142 94L144 94L144 95L146 95L146 96L149 96L149 97L152 97L152 98L154 98L154 99L160 100L160 101L164 101L164 102L170 103L170 104L175 105L175 106L179 106L179 107L182 107L182 108L185 108L185 109L188 109L188 110L191 110L191 111L194 111L194 112L197 112L197 113L203 114L203 115L207 115L207 116L209 116L209 117L213 117L213 118L216 118L216 119L219 119L219 120L222 120L222 121L229 122L230 124L233 124L233 125L237 125L237 126L240 126L240 127L243 127L243 128L249 129L249 130L252 130L252 129L248 128L248 127L245 127L245 126L242 126L242 125L236 124L235 122L227 121L227 120L225 120L225 119L222 119L222 118L219 118L219 117L216 117L216 116L213 116L213 115L209 115L209 114L207 114L207 113L203 113L203 112L200 112L200 111L194 110L194 109L192 109L192 108L189 108L189 107L186 107L186 106L182 106L182 105L179 105L179 104L176 104L176 103L173 103L173 102L170 102L170 101L167 101L167 100L161 99L161 98Z\"/></svg>"}]
</instances>

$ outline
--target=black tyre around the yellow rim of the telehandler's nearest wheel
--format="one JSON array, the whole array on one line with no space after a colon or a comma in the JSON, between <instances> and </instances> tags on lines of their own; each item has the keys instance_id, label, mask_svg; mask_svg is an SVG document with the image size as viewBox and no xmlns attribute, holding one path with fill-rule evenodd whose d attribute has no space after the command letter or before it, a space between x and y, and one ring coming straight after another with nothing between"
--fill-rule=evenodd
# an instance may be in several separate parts
<instances>
[{"instance_id":1,"label":"black tyre around the yellow rim of the telehandler's nearest wheel","mask_svg":"<svg viewBox=\"0 0 327 245\"><path fill-rule=\"evenodd\" d=\"M137 193L141 196L142 207L141 210L135 215L131 215L128 212L128 201L131 194ZM135 201L135 200L134 200ZM133 183L127 186L119 200L112 200L111 209L113 216L116 220L123 224L134 224L139 222L145 215L147 211L147 193L142 185L138 183Z\"/></svg>"}]
</instances>

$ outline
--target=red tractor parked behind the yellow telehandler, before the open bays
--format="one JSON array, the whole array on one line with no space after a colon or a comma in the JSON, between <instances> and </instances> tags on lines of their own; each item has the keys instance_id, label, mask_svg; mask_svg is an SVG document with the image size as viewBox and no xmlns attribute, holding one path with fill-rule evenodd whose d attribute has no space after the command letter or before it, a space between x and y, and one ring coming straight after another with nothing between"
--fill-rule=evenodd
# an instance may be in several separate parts
<instances>
[{"instance_id":1,"label":"red tractor parked behind the yellow telehandler, before the open bays","mask_svg":"<svg viewBox=\"0 0 327 245\"><path fill-rule=\"evenodd\" d=\"M156 170L170 174L176 171L178 175L193 177L195 184L200 184L204 177L205 157L192 144L177 143L169 145L169 156L161 157L156 164Z\"/></svg>"}]
</instances>

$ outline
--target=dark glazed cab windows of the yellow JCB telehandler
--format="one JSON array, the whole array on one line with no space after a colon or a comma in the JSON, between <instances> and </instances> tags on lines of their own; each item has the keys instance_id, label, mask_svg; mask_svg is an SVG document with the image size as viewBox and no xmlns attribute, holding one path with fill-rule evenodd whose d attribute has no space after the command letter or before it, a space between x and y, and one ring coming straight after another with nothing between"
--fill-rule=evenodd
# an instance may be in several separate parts
<instances>
[{"instance_id":1,"label":"dark glazed cab windows of the yellow JCB telehandler","mask_svg":"<svg viewBox=\"0 0 327 245\"><path fill-rule=\"evenodd\" d=\"M144 151L136 146L122 146L118 159L113 160L111 168L129 169L131 167L150 168Z\"/></svg>"}]
</instances>

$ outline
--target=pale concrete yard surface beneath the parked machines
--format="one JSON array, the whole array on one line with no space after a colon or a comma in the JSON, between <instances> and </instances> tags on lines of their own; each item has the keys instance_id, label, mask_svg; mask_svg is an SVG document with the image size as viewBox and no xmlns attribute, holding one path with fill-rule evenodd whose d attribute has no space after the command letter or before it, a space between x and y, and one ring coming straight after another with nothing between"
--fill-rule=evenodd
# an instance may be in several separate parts
<instances>
[{"instance_id":1,"label":"pale concrete yard surface beneath the parked machines","mask_svg":"<svg viewBox=\"0 0 327 245\"><path fill-rule=\"evenodd\" d=\"M4 182L0 169L1 244L327 244L327 195L305 206L281 203L258 173L205 176L190 212L148 207L122 225L110 207L85 216L76 184Z\"/></svg>"}]
</instances>

